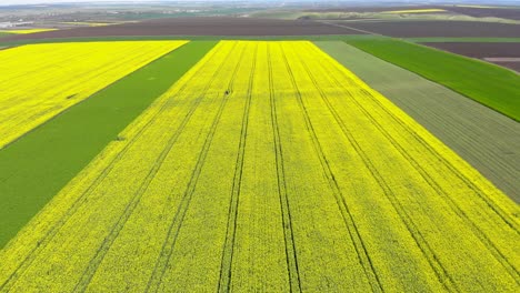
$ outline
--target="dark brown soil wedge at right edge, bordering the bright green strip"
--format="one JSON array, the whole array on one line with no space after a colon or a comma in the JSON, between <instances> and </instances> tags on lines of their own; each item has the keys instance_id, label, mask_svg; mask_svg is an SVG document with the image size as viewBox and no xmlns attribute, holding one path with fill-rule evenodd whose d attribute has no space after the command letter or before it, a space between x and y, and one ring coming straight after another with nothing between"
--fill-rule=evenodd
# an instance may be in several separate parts
<instances>
[{"instance_id":1,"label":"dark brown soil wedge at right edge, bordering the bright green strip","mask_svg":"<svg viewBox=\"0 0 520 293\"><path fill-rule=\"evenodd\" d=\"M478 58L520 72L520 43L422 43L452 53Z\"/></svg>"}]
</instances>

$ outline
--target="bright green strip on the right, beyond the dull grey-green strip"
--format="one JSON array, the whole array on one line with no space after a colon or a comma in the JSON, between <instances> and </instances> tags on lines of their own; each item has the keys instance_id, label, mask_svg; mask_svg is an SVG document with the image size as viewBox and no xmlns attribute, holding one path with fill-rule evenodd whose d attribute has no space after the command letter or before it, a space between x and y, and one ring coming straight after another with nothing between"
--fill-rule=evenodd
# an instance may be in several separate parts
<instances>
[{"instance_id":1,"label":"bright green strip on the right, beyond the dull grey-green strip","mask_svg":"<svg viewBox=\"0 0 520 293\"><path fill-rule=\"evenodd\" d=\"M347 42L520 120L520 75L511 70L394 39Z\"/></svg>"}]
</instances>

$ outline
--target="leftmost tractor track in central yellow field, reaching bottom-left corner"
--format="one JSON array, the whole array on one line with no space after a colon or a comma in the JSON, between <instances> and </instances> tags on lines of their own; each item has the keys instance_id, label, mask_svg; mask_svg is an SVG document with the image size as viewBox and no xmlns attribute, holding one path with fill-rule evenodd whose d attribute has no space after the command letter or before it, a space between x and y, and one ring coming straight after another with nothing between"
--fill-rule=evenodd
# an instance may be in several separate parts
<instances>
[{"instance_id":1,"label":"leftmost tractor track in central yellow field, reaching bottom-left corner","mask_svg":"<svg viewBox=\"0 0 520 293\"><path fill-rule=\"evenodd\" d=\"M213 51L211 54L213 55L216 51ZM204 62L208 62L211 58L208 58ZM202 69L203 67L200 67L198 69L198 72ZM184 83L181 89L179 89L179 91L177 91L177 93L179 92L183 92L187 87L189 84L188 83ZM21 261L20 265L18 265L18 267L13 271L13 273L8 277L8 280L6 280L6 282L3 282L1 285L0 285L0 291L2 290L7 290L9 291L10 290L10 286L12 286L17 280L18 280L18 276L20 276L31 264L32 262L34 261L36 259L36 254L37 252L39 251L42 251L44 247L47 247L47 245L52 241L52 239L58 234L59 230L70 220L70 218L88 201L88 195L90 194L90 191L94 190L97 186L99 186L101 184L101 182L104 180L104 178L107 178L107 175L113 170L113 168L116 166L116 164L122 160L122 158L124 158L124 154L127 153L127 151L130 149L131 145L133 145L133 143L136 143L136 141L138 141L138 139L142 135L142 133L144 133L144 131L156 121L156 119L158 117L160 117L160 114L170 107L170 103L174 103L177 104L178 101L176 99L169 99L167 102L164 102L161 108L159 109L159 111L157 111L152 118L144 124L142 125L141 129L139 129L139 131L136 133L136 135L131 139L131 141L129 141L124 146L123 149L118 152L118 154L112 159L112 161L107 165L106 169L103 169L103 171L92 181L92 183L78 196L78 199L72 203L72 205L67 210L67 212L63 214L63 216L56 222L56 224L53 224L49 231L44 234L44 236L38 242L38 245L34 246L28 254L27 256L23 259L23 261ZM194 105L197 107L197 104Z\"/></svg>"}]
</instances>

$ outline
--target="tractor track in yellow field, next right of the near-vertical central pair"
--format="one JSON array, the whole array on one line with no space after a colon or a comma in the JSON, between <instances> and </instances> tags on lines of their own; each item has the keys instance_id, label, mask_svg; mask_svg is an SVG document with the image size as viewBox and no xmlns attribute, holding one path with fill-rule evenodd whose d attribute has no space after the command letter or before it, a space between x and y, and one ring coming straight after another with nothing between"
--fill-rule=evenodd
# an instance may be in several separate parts
<instances>
[{"instance_id":1,"label":"tractor track in yellow field, next right of the near-vertical central pair","mask_svg":"<svg viewBox=\"0 0 520 293\"><path fill-rule=\"evenodd\" d=\"M312 121L310 120L309 112L308 112L308 110L307 110L307 108L306 108L306 105L303 103L303 99L301 97L300 89L298 88L298 84L296 82L294 74L293 74L292 69L291 69L291 67L289 64L289 61L287 60L287 54L286 54L286 52L283 51L282 48L280 48L280 50L282 51L283 61L284 61L284 64L286 64L286 68L287 68L288 72L289 72L290 80L291 80L292 87L293 87L296 95L297 95L298 104L300 105L300 110L301 110L302 115L303 115L304 121L306 121L307 131L309 132L309 134L311 137L313 149L314 149L316 153L318 154L318 158L319 158L320 164L321 164L321 169L322 169L323 173L327 176L329 186L331 188L332 193L334 194L336 203L338 204L338 210L340 211L341 216L343 218L343 223L347 226L347 231L349 232L350 241L352 242L352 245L356 249L356 254L358 256L358 260L359 260L361 266L363 267L364 275L366 275L367 280L369 281L369 283L370 283L371 287L372 287L372 292L383 292L381 281L380 281L379 275L376 272L376 269L374 269L374 266L372 264L372 260L370 257L370 254L368 253L367 245L364 244L364 242L363 242L363 240L361 238L361 234L359 233L359 229L358 229L358 226L356 224L356 221L354 221L354 219L352 216L352 213L350 212L349 205L348 205L347 201L344 200L343 193L341 192L341 189L340 189L338 182L336 181L336 175L334 175L334 173L332 172L332 170L330 168L329 160L324 155L323 148L321 146L320 141L318 140L318 135L316 134L314 127L312 125ZM299 60L300 60L300 62L302 64L304 64L304 62L301 60L301 58ZM304 68L306 68L306 70L308 70L307 64L304 64ZM311 79L312 79L312 82L313 82L314 87L317 89L321 90L318 87L318 84L317 84L316 80L313 79L313 77L311 77Z\"/></svg>"}]
</instances>

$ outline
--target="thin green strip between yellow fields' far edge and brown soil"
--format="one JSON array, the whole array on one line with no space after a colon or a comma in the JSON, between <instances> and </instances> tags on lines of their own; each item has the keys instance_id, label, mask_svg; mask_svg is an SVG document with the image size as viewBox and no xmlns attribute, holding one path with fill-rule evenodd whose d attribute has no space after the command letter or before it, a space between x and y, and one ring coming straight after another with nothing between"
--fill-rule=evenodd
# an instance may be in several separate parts
<instances>
[{"instance_id":1,"label":"thin green strip between yellow fields' far edge and brown soil","mask_svg":"<svg viewBox=\"0 0 520 293\"><path fill-rule=\"evenodd\" d=\"M30 43L56 43L56 42L98 42L98 41L137 41L137 40L192 40L192 41L219 41L219 40L357 40L387 38L372 34L313 34L313 36L132 36L132 37L96 37L96 38L53 38L53 39L31 39L19 41L1 41L0 46L20 46Z\"/></svg>"}]
</instances>

